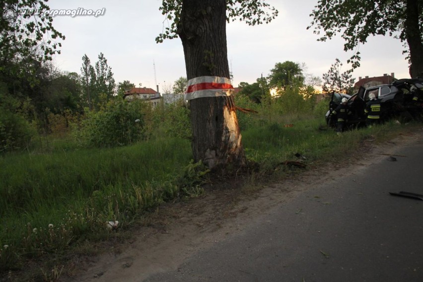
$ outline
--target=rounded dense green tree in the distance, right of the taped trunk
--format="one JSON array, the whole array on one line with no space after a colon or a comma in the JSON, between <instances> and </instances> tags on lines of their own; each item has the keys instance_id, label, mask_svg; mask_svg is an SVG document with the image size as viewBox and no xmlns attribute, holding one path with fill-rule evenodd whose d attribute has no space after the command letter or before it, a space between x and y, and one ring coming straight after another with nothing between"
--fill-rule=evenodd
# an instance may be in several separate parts
<instances>
[{"instance_id":1,"label":"rounded dense green tree in the distance, right of the taped trunk","mask_svg":"<svg viewBox=\"0 0 423 282\"><path fill-rule=\"evenodd\" d=\"M304 83L303 70L298 63L285 61L276 63L268 76L270 88L286 89L295 83Z\"/></svg>"}]
</instances>

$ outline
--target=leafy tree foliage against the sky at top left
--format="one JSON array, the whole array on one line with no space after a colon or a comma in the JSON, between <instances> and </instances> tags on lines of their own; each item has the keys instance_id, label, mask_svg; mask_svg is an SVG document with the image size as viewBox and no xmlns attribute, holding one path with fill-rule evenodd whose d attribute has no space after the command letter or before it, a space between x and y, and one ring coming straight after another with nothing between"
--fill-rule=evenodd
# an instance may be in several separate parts
<instances>
[{"instance_id":1,"label":"leafy tree foliage against the sky at top left","mask_svg":"<svg viewBox=\"0 0 423 282\"><path fill-rule=\"evenodd\" d=\"M50 61L60 54L65 36L53 27L47 0L4 0L0 2L0 73L33 80L35 66L29 69L17 62ZM35 81L32 81L35 83Z\"/></svg>"}]
</instances>

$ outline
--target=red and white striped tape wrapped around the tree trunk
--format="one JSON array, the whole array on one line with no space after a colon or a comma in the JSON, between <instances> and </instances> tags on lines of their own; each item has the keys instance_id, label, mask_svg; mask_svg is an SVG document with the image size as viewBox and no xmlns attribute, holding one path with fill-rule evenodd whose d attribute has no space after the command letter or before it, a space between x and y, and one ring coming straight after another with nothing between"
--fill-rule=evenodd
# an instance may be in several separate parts
<instances>
[{"instance_id":1,"label":"red and white striped tape wrapped around the tree trunk","mask_svg":"<svg viewBox=\"0 0 423 282\"><path fill-rule=\"evenodd\" d=\"M188 80L185 100L202 97L230 96L233 86L229 78L218 76L200 76Z\"/></svg>"}]
</instances>

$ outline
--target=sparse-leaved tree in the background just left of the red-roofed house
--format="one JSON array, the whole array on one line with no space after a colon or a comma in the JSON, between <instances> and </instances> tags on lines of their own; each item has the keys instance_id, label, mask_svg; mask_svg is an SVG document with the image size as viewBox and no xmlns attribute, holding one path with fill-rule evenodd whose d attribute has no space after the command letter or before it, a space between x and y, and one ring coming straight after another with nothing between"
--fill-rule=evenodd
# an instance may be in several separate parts
<instances>
[{"instance_id":1,"label":"sparse-leaved tree in the background just left of the red-roofed house","mask_svg":"<svg viewBox=\"0 0 423 282\"><path fill-rule=\"evenodd\" d=\"M351 70L341 72L341 69L342 63L337 58L328 72L323 74L322 90L324 93L352 94L355 79L352 78Z\"/></svg>"}]
</instances>

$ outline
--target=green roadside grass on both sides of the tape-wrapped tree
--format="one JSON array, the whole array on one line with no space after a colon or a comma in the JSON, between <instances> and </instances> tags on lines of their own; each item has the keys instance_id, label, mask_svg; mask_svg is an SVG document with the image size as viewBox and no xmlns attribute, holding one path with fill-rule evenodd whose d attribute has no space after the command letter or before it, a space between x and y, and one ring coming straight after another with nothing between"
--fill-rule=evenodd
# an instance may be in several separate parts
<instances>
[{"instance_id":1,"label":"green roadside grass on both sides of the tape-wrapped tree","mask_svg":"<svg viewBox=\"0 0 423 282\"><path fill-rule=\"evenodd\" d=\"M298 171L283 165L286 161L317 166L354 153L364 140L384 141L421 128L389 122L337 135L317 116L275 115L272 121L244 116L249 125L242 131L246 156L259 164L247 185ZM71 140L49 142L0 157L3 273L46 256L55 258L51 267L59 272L56 256L118 236L165 201L204 193L208 170L190 161L191 145L185 139L157 136L130 146L91 149L78 148Z\"/></svg>"}]
</instances>

